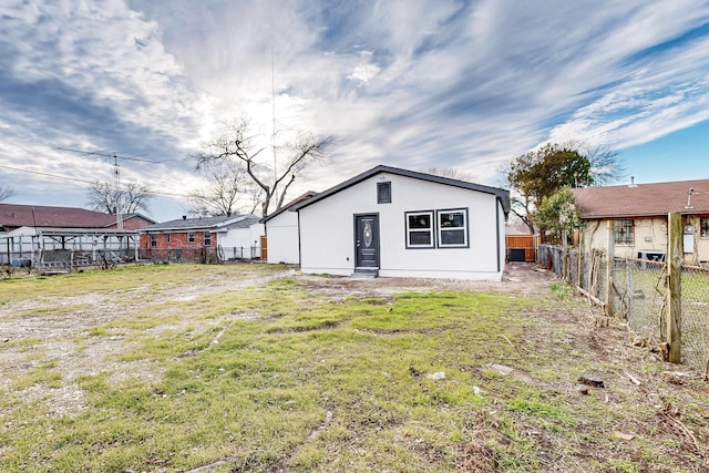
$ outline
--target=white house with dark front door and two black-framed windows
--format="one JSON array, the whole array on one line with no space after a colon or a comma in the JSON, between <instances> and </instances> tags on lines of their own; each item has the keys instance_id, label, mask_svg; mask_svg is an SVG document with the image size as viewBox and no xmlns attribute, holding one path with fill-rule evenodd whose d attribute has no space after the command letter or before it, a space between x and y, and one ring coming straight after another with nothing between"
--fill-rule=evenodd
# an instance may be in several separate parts
<instances>
[{"instance_id":1,"label":"white house with dark front door and two black-framed windows","mask_svg":"<svg viewBox=\"0 0 709 473\"><path fill-rule=\"evenodd\" d=\"M502 278L504 189L377 166L294 209L304 273Z\"/></svg>"}]
</instances>

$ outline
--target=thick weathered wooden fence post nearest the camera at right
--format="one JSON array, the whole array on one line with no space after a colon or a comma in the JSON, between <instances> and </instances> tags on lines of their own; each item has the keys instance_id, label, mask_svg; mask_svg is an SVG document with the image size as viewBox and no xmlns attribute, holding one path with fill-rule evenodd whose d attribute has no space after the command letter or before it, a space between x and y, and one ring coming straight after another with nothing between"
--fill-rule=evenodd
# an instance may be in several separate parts
<instances>
[{"instance_id":1,"label":"thick weathered wooden fence post nearest the camera at right","mask_svg":"<svg viewBox=\"0 0 709 473\"><path fill-rule=\"evenodd\" d=\"M681 362L681 275L682 275L682 216L672 212L667 217L667 343L668 361Z\"/></svg>"}]
</instances>

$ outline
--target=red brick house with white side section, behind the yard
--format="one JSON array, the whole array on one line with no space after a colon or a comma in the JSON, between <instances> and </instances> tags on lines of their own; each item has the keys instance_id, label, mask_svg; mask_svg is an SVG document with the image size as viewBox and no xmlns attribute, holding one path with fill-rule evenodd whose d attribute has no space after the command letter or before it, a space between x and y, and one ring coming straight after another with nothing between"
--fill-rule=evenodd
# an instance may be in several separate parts
<instances>
[{"instance_id":1,"label":"red brick house with white side section, behind the yard","mask_svg":"<svg viewBox=\"0 0 709 473\"><path fill-rule=\"evenodd\" d=\"M141 258L218 260L251 257L263 235L255 215L182 217L140 230ZM240 249L237 251L236 249ZM248 250L245 250L248 248Z\"/></svg>"}]
</instances>

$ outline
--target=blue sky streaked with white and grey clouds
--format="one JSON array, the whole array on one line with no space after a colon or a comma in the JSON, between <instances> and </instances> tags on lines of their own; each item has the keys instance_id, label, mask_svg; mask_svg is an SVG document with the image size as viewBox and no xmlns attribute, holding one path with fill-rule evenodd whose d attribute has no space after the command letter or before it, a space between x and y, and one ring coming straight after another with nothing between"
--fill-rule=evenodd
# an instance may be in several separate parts
<instances>
[{"instance_id":1,"label":"blue sky streaked with white and grey clouds","mask_svg":"<svg viewBox=\"0 0 709 473\"><path fill-rule=\"evenodd\" d=\"M3 0L0 16L8 203L84 207L116 154L134 158L122 183L157 193L150 215L178 218L203 185L186 156L242 116L264 140L274 117L279 136L337 136L292 197L378 164L501 185L503 162L568 140L617 150L628 181L709 178L707 1Z\"/></svg>"}]
</instances>

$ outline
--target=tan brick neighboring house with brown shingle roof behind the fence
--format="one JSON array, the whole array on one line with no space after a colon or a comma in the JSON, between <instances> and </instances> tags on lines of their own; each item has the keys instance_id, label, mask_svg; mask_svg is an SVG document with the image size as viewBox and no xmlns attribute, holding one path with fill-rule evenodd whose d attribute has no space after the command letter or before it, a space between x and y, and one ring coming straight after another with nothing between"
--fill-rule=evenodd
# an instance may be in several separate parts
<instances>
[{"instance_id":1,"label":"tan brick neighboring house with brown shingle roof behind the fence","mask_svg":"<svg viewBox=\"0 0 709 473\"><path fill-rule=\"evenodd\" d=\"M709 264L709 179L677 181L572 189L580 209L586 250L607 249L614 226L618 257L664 260L667 216L682 216L685 263Z\"/></svg>"}]
</instances>

